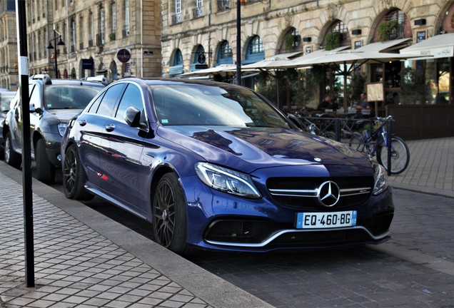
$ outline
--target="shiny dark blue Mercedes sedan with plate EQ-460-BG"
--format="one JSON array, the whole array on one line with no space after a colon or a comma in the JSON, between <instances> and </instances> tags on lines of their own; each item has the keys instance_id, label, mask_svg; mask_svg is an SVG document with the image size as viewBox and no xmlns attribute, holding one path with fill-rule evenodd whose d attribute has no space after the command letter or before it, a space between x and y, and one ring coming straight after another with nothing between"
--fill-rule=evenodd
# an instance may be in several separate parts
<instances>
[{"instance_id":1,"label":"shiny dark blue Mercedes sedan with plate EQ-460-BG","mask_svg":"<svg viewBox=\"0 0 454 308\"><path fill-rule=\"evenodd\" d=\"M126 78L69 122L66 197L93 195L152 223L180 254L379 243L393 199L383 167L303 133L248 88Z\"/></svg>"}]
</instances>

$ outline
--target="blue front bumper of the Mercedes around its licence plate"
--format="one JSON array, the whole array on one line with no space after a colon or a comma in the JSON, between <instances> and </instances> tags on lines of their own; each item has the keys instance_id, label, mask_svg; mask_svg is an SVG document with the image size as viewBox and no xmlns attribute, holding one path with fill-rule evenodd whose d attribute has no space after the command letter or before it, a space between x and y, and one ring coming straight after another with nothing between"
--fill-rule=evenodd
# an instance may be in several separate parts
<instances>
[{"instance_id":1,"label":"blue front bumper of the Mercedes around its licence plate","mask_svg":"<svg viewBox=\"0 0 454 308\"><path fill-rule=\"evenodd\" d=\"M245 200L192 181L192 199L188 202L188 244L209 250L267 252L271 250L343 247L378 244L388 240L393 220L390 188L380 195L370 194L365 202L345 203L328 209L301 209L283 206L269 196ZM200 184L203 185L203 184ZM194 196L197 196L195 199ZM311 205L312 207L312 205ZM352 227L302 230L296 228L298 212L336 212L356 210Z\"/></svg>"}]
</instances>

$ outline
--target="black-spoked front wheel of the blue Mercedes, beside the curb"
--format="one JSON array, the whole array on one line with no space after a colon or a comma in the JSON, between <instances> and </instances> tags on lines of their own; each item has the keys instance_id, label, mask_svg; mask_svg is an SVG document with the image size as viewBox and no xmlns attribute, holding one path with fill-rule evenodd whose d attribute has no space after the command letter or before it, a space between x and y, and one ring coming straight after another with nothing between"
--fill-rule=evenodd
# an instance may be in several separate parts
<instances>
[{"instance_id":1,"label":"black-spoked front wheel of the blue Mercedes, beside the curb","mask_svg":"<svg viewBox=\"0 0 454 308\"><path fill-rule=\"evenodd\" d=\"M156 242L181 255L186 245L186 201L175 173L166 173L153 197L153 232Z\"/></svg>"}]
</instances>

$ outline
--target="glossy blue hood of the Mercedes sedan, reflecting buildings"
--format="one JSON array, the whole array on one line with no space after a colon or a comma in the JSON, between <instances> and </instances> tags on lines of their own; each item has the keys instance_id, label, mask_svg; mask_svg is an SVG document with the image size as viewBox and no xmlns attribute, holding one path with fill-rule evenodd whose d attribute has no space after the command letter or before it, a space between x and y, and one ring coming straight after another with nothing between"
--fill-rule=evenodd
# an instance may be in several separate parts
<instances>
[{"instance_id":1,"label":"glossy blue hood of the Mercedes sedan, reflecting buildings","mask_svg":"<svg viewBox=\"0 0 454 308\"><path fill-rule=\"evenodd\" d=\"M283 165L355 165L370 168L365 155L317 135L283 128L160 126L157 134L211 163L252 172Z\"/></svg>"}]
</instances>

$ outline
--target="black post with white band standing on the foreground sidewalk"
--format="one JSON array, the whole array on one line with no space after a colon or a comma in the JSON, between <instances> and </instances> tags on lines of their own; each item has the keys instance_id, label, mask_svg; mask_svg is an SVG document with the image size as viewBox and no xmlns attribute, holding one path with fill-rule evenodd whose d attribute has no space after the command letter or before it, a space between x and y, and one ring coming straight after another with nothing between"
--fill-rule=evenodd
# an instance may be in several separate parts
<instances>
[{"instance_id":1,"label":"black post with white band standing on the foreground sidewalk","mask_svg":"<svg viewBox=\"0 0 454 308\"><path fill-rule=\"evenodd\" d=\"M19 85L22 116L22 190L24 194L24 244L25 284L35 286L33 194L31 190L31 144L30 144L30 98L29 59L27 58L26 5L25 0L16 0L17 48L19 54Z\"/></svg>"}]
</instances>

